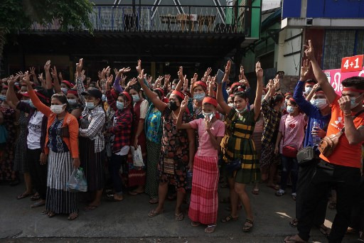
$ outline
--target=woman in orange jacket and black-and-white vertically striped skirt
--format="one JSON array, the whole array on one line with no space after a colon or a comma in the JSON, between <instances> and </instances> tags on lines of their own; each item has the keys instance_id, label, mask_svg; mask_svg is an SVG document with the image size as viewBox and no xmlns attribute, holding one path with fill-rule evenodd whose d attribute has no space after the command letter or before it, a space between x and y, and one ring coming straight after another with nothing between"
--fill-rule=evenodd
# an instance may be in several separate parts
<instances>
[{"instance_id":1,"label":"woman in orange jacket and black-and-white vertically striped skirt","mask_svg":"<svg viewBox=\"0 0 364 243\"><path fill-rule=\"evenodd\" d=\"M67 112L68 102L65 95L53 95L51 105L47 107L34 92L28 72L24 75L24 81L34 106L48 117L45 136L45 155L49 155L45 210L48 217L65 213L69 214L68 220L75 220L78 217L77 193L68 190L67 182L73 167L80 166L77 119ZM65 130L68 132L62 132Z\"/></svg>"}]
</instances>

